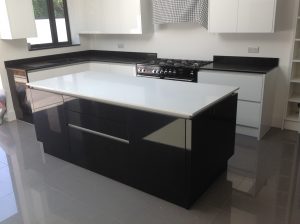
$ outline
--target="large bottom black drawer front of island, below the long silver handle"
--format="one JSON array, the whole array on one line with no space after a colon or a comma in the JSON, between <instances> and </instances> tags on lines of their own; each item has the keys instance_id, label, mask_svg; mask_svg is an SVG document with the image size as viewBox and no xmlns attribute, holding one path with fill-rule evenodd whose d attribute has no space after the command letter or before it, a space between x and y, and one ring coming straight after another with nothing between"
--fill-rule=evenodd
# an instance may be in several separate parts
<instances>
[{"instance_id":1,"label":"large bottom black drawer front of island, below the long silver handle","mask_svg":"<svg viewBox=\"0 0 300 224\"><path fill-rule=\"evenodd\" d=\"M69 127L72 162L128 183L129 144Z\"/></svg>"}]
</instances>

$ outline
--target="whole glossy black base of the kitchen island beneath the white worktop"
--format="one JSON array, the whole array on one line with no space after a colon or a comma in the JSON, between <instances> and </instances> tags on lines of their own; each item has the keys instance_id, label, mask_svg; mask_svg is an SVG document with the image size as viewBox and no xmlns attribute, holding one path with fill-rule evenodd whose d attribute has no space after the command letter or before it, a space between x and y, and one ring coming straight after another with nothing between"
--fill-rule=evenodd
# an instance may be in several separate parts
<instances>
[{"instance_id":1,"label":"whole glossy black base of the kitchen island beneath the white worktop","mask_svg":"<svg viewBox=\"0 0 300 224\"><path fill-rule=\"evenodd\" d=\"M46 153L185 208L233 155L237 94L183 119L31 91Z\"/></svg>"}]
</instances>

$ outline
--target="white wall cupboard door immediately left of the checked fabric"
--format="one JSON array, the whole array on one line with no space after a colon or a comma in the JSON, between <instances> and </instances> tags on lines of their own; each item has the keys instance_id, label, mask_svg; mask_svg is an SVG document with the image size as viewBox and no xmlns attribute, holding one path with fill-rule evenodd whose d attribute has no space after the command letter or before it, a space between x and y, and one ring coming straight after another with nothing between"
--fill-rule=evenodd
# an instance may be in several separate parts
<instances>
[{"instance_id":1,"label":"white wall cupboard door immediately left of the checked fabric","mask_svg":"<svg viewBox=\"0 0 300 224\"><path fill-rule=\"evenodd\" d=\"M117 0L119 8L119 19L121 33L141 34L142 33L142 15L140 0Z\"/></svg>"}]
</instances>

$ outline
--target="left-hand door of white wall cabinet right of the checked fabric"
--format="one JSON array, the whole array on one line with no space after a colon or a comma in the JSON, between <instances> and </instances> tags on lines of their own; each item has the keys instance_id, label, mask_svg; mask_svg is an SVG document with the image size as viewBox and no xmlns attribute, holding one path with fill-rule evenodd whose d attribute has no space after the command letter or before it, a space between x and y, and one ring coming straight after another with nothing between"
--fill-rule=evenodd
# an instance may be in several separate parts
<instances>
[{"instance_id":1,"label":"left-hand door of white wall cabinet right of the checked fabric","mask_svg":"<svg viewBox=\"0 0 300 224\"><path fill-rule=\"evenodd\" d=\"M235 33L237 17L238 0L209 1L209 32Z\"/></svg>"}]
</instances>

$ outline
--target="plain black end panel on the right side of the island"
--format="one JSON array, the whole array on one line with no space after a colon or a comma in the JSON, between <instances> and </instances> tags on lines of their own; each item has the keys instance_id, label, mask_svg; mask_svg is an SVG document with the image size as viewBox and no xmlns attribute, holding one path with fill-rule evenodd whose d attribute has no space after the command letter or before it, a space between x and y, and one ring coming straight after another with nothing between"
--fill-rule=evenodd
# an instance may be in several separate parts
<instances>
[{"instance_id":1,"label":"plain black end panel on the right side of the island","mask_svg":"<svg viewBox=\"0 0 300 224\"><path fill-rule=\"evenodd\" d=\"M192 120L192 149L187 150L191 205L227 168L234 153L237 94Z\"/></svg>"}]
</instances>

